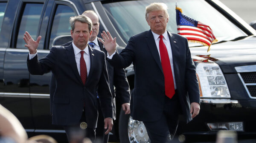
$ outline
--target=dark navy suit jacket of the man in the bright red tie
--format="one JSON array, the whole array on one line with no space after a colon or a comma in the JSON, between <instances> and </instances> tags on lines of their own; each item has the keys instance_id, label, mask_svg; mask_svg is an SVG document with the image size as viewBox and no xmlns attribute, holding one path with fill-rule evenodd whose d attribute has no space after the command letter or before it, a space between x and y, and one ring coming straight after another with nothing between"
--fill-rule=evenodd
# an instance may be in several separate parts
<instances>
[{"instance_id":1,"label":"dark navy suit jacket of the man in the bright red tie","mask_svg":"<svg viewBox=\"0 0 256 143\"><path fill-rule=\"evenodd\" d=\"M187 39L169 34L172 59L181 111L186 121L192 120L190 103L200 103L195 64ZM151 30L131 36L128 45L120 54L107 59L116 67L134 65L135 79L132 92L131 116L138 121L157 121L163 114L165 86L160 56Z\"/></svg>"}]
</instances>

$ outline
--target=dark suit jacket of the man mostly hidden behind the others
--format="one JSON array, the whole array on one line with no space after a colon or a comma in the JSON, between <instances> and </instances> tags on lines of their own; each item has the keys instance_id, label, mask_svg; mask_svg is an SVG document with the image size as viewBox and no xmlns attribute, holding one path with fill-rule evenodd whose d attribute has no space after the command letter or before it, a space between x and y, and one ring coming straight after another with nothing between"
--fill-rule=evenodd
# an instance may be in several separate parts
<instances>
[{"instance_id":1,"label":"dark suit jacket of the man mostly hidden behind the others","mask_svg":"<svg viewBox=\"0 0 256 143\"><path fill-rule=\"evenodd\" d=\"M98 37L97 37L98 38ZM107 50L103 48L103 44L99 42L99 48L105 53L107 57ZM65 43L62 46L70 45L72 41ZM123 68L113 67L108 61L107 63L107 70L108 70L108 78L109 78L109 87L111 93L113 95L112 104L113 104L113 120L116 120L116 100L115 97L119 97L120 104L130 103L131 96L130 96L130 88L128 84L128 80L126 78L125 70ZM115 87L115 89L114 89ZM55 78L52 76L51 85L50 85L50 95L54 93L55 89ZM52 112L52 111L51 111Z\"/></svg>"}]
</instances>

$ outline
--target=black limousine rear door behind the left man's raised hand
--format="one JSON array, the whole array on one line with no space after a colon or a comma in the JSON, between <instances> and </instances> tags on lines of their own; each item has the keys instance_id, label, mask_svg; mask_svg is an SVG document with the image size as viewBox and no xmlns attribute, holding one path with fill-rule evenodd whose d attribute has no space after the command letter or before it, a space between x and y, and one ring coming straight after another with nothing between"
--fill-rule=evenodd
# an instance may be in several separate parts
<instances>
[{"instance_id":1,"label":"black limousine rear door behind the left man's raised hand","mask_svg":"<svg viewBox=\"0 0 256 143\"><path fill-rule=\"evenodd\" d=\"M4 34L9 35L6 39L10 41L7 42L4 58L5 100L2 104L19 119L28 133L33 133L35 127L29 95L29 72L26 66L28 50L24 46L23 34L29 31L33 38L38 36L43 7L44 0L38 0L36 3L9 0L6 8L6 14L9 15L4 17L3 25Z\"/></svg>"}]
</instances>

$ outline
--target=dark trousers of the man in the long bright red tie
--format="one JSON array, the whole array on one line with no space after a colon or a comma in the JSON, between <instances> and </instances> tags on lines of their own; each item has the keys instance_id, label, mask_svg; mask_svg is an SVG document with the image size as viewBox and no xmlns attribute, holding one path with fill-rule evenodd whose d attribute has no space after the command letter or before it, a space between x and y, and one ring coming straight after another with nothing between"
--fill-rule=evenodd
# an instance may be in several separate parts
<instances>
[{"instance_id":1,"label":"dark trousers of the man in the long bright red tie","mask_svg":"<svg viewBox=\"0 0 256 143\"><path fill-rule=\"evenodd\" d=\"M165 97L163 114L158 121L143 122L151 143L169 143L173 139L178 126L180 103L175 94L172 99Z\"/></svg>"}]
</instances>

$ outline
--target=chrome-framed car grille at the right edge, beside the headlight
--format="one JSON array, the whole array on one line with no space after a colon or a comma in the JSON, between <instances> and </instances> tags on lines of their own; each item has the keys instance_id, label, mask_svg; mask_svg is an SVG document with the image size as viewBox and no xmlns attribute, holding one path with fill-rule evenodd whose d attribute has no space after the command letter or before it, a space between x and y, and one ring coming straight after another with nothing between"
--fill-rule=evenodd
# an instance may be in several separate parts
<instances>
[{"instance_id":1,"label":"chrome-framed car grille at the right edge, beside the headlight","mask_svg":"<svg viewBox=\"0 0 256 143\"><path fill-rule=\"evenodd\" d=\"M256 98L256 65L235 67L250 98Z\"/></svg>"}]
</instances>

